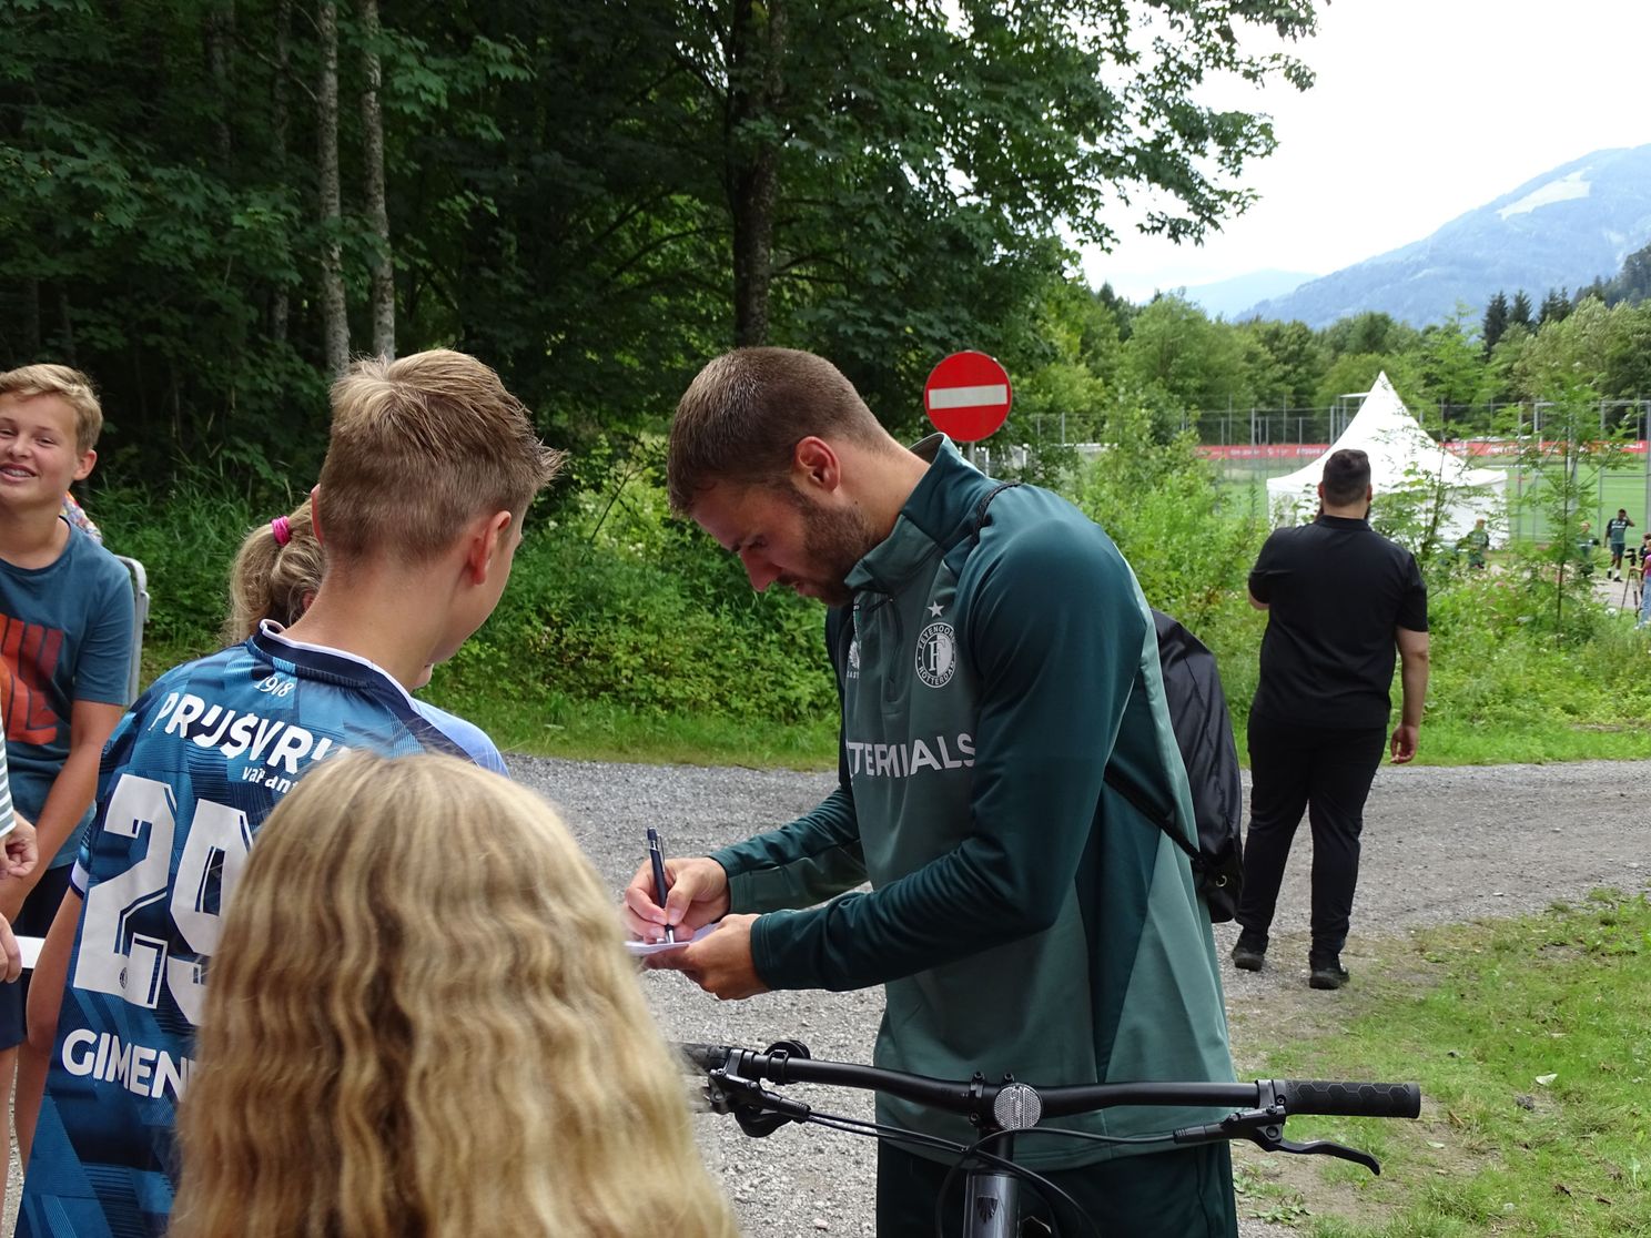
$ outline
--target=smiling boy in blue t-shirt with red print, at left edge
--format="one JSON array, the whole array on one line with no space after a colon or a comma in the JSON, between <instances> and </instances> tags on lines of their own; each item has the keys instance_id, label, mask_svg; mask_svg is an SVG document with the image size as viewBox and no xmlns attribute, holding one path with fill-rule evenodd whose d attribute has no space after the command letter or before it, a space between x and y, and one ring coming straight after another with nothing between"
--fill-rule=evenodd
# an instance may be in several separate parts
<instances>
[{"instance_id":1,"label":"smiling boy in blue t-shirt with red print, at left edge","mask_svg":"<svg viewBox=\"0 0 1651 1238\"><path fill-rule=\"evenodd\" d=\"M92 470L101 431L97 396L78 370L0 375L0 710L12 802L40 847L28 877L0 883L0 914L35 938L68 890L97 758L125 710L132 584L63 518L63 495ZM0 1104L12 1099L26 992L26 977L0 989Z\"/></svg>"}]
</instances>

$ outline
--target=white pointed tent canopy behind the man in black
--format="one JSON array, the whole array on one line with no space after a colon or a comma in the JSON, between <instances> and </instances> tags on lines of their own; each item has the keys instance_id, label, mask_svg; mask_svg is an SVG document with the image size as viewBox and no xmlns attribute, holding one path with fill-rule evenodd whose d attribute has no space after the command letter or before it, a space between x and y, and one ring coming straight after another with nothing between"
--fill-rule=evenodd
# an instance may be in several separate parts
<instances>
[{"instance_id":1,"label":"white pointed tent canopy behind the man in black","mask_svg":"<svg viewBox=\"0 0 1651 1238\"><path fill-rule=\"evenodd\" d=\"M1370 484L1375 487L1377 503L1382 502L1382 494L1398 489L1438 487L1436 492L1445 500L1438 535L1446 543L1455 543L1481 517L1494 522L1502 510L1507 475L1499 469L1469 469L1428 437L1382 373L1359 406L1359 413L1347 423L1347 429L1324 456L1304 469L1266 480L1268 505L1275 520L1281 523L1308 520L1317 512L1317 485L1324 475L1324 461L1344 447L1357 447L1370 457Z\"/></svg>"}]
</instances>

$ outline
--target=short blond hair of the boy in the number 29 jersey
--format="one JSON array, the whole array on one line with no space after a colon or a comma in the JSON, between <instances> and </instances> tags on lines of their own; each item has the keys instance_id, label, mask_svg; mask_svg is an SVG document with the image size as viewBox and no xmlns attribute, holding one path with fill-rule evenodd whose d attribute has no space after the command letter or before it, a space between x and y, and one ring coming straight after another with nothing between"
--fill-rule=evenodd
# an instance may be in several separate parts
<instances>
[{"instance_id":1,"label":"short blond hair of the boy in the number 29 jersey","mask_svg":"<svg viewBox=\"0 0 1651 1238\"><path fill-rule=\"evenodd\" d=\"M357 361L332 385L320 530L332 558L434 558L480 513L520 518L561 467L499 375L436 348Z\"/></svg>"}]
</instances>

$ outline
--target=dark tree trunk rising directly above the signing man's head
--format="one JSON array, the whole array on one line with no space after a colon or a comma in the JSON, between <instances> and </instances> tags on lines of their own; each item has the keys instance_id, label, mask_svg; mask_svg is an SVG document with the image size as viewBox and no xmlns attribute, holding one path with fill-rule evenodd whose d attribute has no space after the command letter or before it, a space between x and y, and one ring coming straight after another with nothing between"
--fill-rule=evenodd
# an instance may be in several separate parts
<instances>
[{"instance_id":1,"label":"dark tree trunk rising directly above the signing man's head","mask_svg":"<svg viewBox=\"0 0 1651 1238\"><path fill-rule=\"evenodd\" d=\"M755 0L735 3L723 142L733 220L733 340L738 348L768 342L779 147L771 137L753 137L746 124L766 116L779 101L784 46L783 0L769 0L764 13L758 12Z\"/></svg>"}]
</instances>

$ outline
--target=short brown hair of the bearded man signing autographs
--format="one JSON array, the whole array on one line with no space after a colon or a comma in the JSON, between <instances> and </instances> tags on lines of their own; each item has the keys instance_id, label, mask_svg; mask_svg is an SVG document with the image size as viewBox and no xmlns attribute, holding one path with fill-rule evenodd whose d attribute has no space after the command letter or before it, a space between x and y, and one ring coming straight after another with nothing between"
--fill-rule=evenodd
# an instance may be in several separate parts
<instances>
[{"instance_id":1,"label":"short brown hair of the bearded man signing autographs","mask_svg":"<svg viewBox=\"0 0 1651 1238\"><path fill-rule=\"evenodd\" d=\"M670 507L693 510L717 482L771 484L811 434L896 447L854 383L824 357L796 348L735 348L688 385L670 421Z\"/></svg>"}]
</instances>

